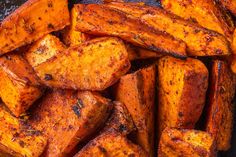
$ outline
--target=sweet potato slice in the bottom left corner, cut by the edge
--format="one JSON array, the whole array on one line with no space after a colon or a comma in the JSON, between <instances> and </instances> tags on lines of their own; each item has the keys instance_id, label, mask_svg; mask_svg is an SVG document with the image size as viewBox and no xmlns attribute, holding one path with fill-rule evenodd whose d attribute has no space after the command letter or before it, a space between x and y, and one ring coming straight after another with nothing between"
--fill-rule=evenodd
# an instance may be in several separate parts
<instances>
[{"instance_id":1,"label":"sweet potato slice in the bottom left corner, cut by the edge","mask_svg":"<svg viewBox=\"0 0 236 157\"><path fill-rule=\"evenodd\" d=\"M0 152L14 157L38 157L47 144L47 139L41 136L39 131L12 116L4 109L2 103L0 103L0 137Z\"/></svg>"}]
</instances>

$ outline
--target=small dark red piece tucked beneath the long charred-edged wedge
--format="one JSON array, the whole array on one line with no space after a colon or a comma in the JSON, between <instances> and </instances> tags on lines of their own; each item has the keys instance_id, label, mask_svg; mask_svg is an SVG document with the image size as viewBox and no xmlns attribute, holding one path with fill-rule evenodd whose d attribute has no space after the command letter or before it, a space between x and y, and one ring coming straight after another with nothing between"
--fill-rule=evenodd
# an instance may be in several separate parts
<instances>
[{"instance_id":1,"label":"small dark red piece tucked beneath the long charred-edged wedge","mask_svg":"<svg viewBox=\"0 0 236 157\"><path fill-rule=\"evenodd\" d=\"M149 59L149 58L159 58L163 56L163 53L158 53L150 51L148 49L136 47L130 44L126 44L126 49L129 54L129 60L139 60L139 59Z\"/></svg>"}]
</instances>

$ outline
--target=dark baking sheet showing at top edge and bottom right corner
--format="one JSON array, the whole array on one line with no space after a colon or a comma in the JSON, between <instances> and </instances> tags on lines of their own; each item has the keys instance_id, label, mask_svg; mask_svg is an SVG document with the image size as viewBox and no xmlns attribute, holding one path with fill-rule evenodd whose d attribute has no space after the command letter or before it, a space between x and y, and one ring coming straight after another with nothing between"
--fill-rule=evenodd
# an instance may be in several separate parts
<instances>
[{"instance_id":1,"label":"dark baking sheet showing at top edge and bottom right corner","mask_svg":"<svg viewBox=\"0 0 236 157\"><path fill-rule=\"evenodd\" d=\"M12 11L17 9L27 0L0 0L0 21L2 21ZM69 7L74 3L101 3L102 0L69 0ZM127 2L145 2L148 5L160 6L160 3L155 0L127 0ZM232 137L232 147L227 152L220 152L219 157L236 157L236 116L234 118L234 131Z\"/></svg>"}]
</instances>

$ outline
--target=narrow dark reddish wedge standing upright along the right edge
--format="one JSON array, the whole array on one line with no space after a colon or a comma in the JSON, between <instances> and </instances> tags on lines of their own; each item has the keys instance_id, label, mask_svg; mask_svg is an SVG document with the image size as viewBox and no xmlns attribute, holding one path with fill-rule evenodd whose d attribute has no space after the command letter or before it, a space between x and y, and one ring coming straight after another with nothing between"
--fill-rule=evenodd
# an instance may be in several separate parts
<instances>
[{"instance_id":1,"label":"narrow dark reddish wedge standing upright along the right edge","mask_svg":"<svg viewBox=\"0 0 236 157\"><path fill-rule=\"evenodd\" d=\"M207 132L216 138L218 150L230 148L233 131L234 78L228 64L215 60L211 71Z\"/></svg>"}]
</instances>

